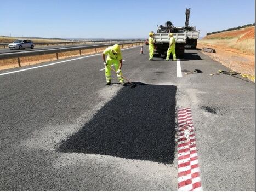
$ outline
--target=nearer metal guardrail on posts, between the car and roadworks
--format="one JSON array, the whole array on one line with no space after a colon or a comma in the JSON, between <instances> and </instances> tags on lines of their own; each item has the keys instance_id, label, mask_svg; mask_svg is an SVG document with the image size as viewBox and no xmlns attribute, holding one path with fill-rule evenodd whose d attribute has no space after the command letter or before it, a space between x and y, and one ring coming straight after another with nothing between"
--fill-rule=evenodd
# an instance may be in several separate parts
<instances>
[{"instance_id":1,"label":"nearer metal guardrail on posts, between the car and roadworks","mask_svg":"<svg viewBox=\"0 0 256 192\"><path fill-rule=\"evenodd\" d=\"M143 43L144 43L143 41L137 41L137 42L126 42L126 43L118 43L118 44L121 45L121 48L123 48L123 45L128 45L128 47L129 47L130 44L132 44L132 46L134 46L134 45L141 45ZM33 51L32 50L31 51L20 51L20 52L13 52L13 53L2 53L2 54L0 54L0 60L18 58L18 64L19 64L19 67L21 67L20 57L56 53L56 59L59 59L58 53L79 50L80 55L82 55L81 50L84 50L84 49L95 49L95 53L97 53L97 48L103 48L103 47L112 46L112 45L114 45L114 44L112 43L112 44L104 44L104 45L75 46L75 47L70 47L70 48L54 48L54 49L33 50Z\"/></svg>"}]
</instances>

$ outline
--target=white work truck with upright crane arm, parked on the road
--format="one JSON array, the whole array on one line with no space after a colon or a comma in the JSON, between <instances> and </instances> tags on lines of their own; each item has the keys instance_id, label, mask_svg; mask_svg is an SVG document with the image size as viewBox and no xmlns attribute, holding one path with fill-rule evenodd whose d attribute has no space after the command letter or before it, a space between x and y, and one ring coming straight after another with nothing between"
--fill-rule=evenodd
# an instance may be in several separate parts
<instances>
[{"instance_id":1,"label":"white work truck with upright crane arm, parked on the road","mask_svg":"<svg viewBox=\"0 0 256 192\"><path fill-rule=\"evenodd\" d=\"M181 57L184 55L185 48L196 49L199 31L195 26L189 26L190 8L186 9L186 21L184 27L174 27L172 22L167 21L166 24L158 26L155 33L155 57L166 55L169 48L169 33L173 33L176 40L176 55Z\"/></svg>"}]
</instances>

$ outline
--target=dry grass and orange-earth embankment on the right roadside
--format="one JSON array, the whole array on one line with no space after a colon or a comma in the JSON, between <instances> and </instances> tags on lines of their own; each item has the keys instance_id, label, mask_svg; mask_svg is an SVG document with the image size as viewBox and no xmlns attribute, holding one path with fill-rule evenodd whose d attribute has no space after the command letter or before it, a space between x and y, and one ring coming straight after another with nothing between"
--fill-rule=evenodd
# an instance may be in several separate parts
<instances>
[{"instance_id":1,"label":"dry grass and orange-earth embankment on the right roadside","mask_svg":"<svg viewBox=\"0 0 256 192\"><path fill-rule=\"evenodd\" d=\"M255 27L212 34L198 40L198 48L210 47L216 53L205 53L232 71L255 75Z\"/></svg>"}]
</instances>

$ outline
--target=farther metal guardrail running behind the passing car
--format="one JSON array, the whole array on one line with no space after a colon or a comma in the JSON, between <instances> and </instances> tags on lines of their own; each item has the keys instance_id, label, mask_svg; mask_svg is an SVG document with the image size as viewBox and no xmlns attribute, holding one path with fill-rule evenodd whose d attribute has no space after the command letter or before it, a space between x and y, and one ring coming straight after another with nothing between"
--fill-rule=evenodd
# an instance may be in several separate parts
<instances>
[{"instance_id":1,"label":"farther metal guardrail running behind the passing car","mask_svg":"<svg viewBox=\"0 0 256 192\"><path fill-rule=\"evenodd\" d=\"M32 40L33 41L33 40ZM82 40L82 41L69 41L69 42L37 42L37 43L33 43L35 46L36 45L44 45L44 44L46 44L46 45L54 45L54 44L56 44L56 45L58 45L58 44L80 44L80 43L100 43L100 42L102 42L102 43L107 43L107 42L109 42L109 43L112 43L112 42L136 42L136 41L138 41L138 40L133 40L133 39L131 39L131 40L129 40L129 39L127 39L127 40L123 40L123 39L120 39L120 40ZM5 47L8 47L8 45L9 45L10 43L0 43L0 46L4 46L4 48Z\"/></svg>"}]
</instances>

